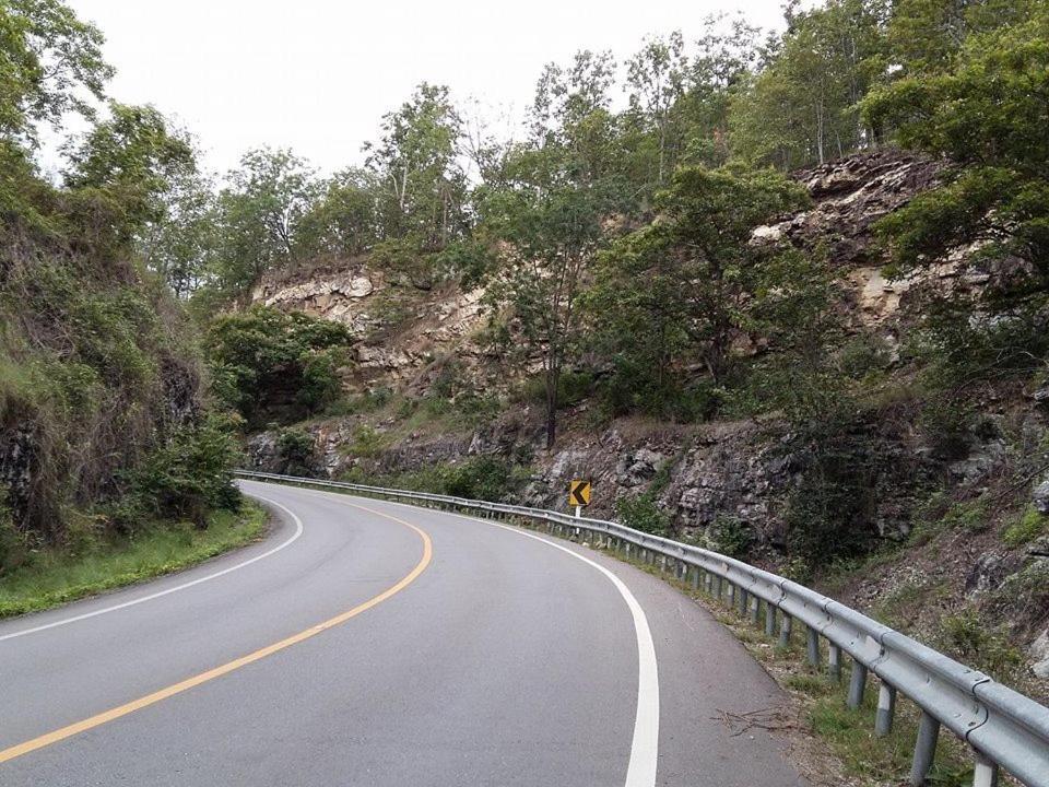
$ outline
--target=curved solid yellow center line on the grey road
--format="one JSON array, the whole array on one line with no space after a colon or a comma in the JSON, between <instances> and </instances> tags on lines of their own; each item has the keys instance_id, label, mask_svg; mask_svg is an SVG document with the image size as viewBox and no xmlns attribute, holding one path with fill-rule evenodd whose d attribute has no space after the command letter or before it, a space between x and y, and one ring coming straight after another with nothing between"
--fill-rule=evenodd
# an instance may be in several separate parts
<instances>
[{"instance_id":1,"label":"curved solid yellow center line on the grey road","mask_svg":"<svg viewBox=\"0 0 1049 787\"><path fill-rule=\"evenodd\" d=\"M50 745L51 743L57 743L58 741L64 740L67 738L71 738L74 735L79 735L81 732L93 729L95 727L99 727L101 725L118 719L121 716L127 716L128 714L134 713L135 710L140 710L141 708L144 708L144 707L149 707L150 705L158 703L162 700L167 700L168 697L175 696L176 694L181 694L184 691L188 691L195 686L199 686L201 683L207 683L208 681L212 681L215 678L221 678L222 676L228 674L234 670L238 670L241 667L246 667L249 663L254 663L256 661L264 659L267 656L271 656L272 654L275 654L278 650L283 650L284 648L288 648L292 645L297 645L300 642L305 642L306 639L309 639L310 637L315 637L321 632L328 631L329 629L332 629L337 625L345 623L351 618L355 618L362 612L365 612L366 610L372 609L376 604L381 603L382 601L386 601L388 598L400 592L401 590L406 588L409 585L411 585L413 582L415 582L419 575L426 569L427 565L429 565L431 559L433 557L433 554L434 554L434 547L433 547L433 542L429 540L429 536L421 528L415 527L409 521L399 519L396 516L384 514L382 512L377 512L372 508L366 508L364 506L354 505L353 503L346 503L346 505L352 506L353 508L360 508L363 512L368 512L369 514L375 514L376 516L380 516L386 519L391 519L392 521L399 522L400 525L404 525L411 528L412 530L414 530L419 535L419 537L422 539L423 556L420 559L419 563L415 564L415 567L412 568L412 571L410 571L396 585L392 585L391 587L387 588L386 590L380 592L378 596L369 598L367 601L364 601L363 603L357 604L353 609L346 610L345 612L342 612L335 615L334 618L329 618L322 623L318 623L317 625L311 626L306 631L302 631L298 634L293 634L286 639L281 639L280 642L273 643L272 645L267 645L263 648L259 648L258 650L249 653L246 656L241 656L240 658L236 658L233 661L228 661L220 667L210 669L207 672L201 672L200 674L193 676L192 678L188 678L187 680L184 680L179 683L175 683L173 685L161 689L160 691L155 691L152 694L146 694L143 697L139 697L138 700L132 700L131 702L125 703L123 705L118 705L117 707L109 708L108 710L104 710L101 714L96 714L90 718L85 718L82 721L76 721L67 727L62 727L51 732L42 735L38 738L27 740L24 743L19 743L16 745L13 745L10 749L4 749L0 751L0 763L8 762L9 760L14 760L15 757L20 757L23 754L28 754L30 752L36 751L37 749L43 749L44 747Z\"/></svg>"}]
</instances>

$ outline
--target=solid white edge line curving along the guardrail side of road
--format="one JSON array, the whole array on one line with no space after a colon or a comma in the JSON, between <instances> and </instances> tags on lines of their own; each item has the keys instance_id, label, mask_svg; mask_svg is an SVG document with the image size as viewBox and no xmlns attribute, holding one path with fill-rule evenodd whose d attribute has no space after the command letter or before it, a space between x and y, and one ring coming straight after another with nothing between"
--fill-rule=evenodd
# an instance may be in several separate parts
<instances>
[{"instance_id":1,"label":"solid white edge line curving along the guardrail side of road","mask_svg":"<svg viewBox=\"0 0 1049 787\"><path fill-rule=\"evenodd\" d=\"M634 717L634 738L630 742L630 761L626 768L624 787L655 787L656 767L659 759L659 669L656 661L656 644L652 641L652 632L648 627L648 618L645 616L645 610L622 579L600 563L585 557L567 547L562 547L541 536L509 525L503 525L490 519L481 519L480 517L468 516L465 514L432 510L421 506L413 506L410 503L376 501L373 497L347 495L340 492L328 492L327 490L306 491L320 492L321 494L332 497L354 497L362 501L386 503L403 508L412 508L416 512L429 510L434 514L443 514L444 516L456 517L458 519L469 519L481 522L482 525L494 525L497 528L509 530L518 536L534 539L547 547L558 549L604 574L604 576L609 578L609 582L615 586L615 589L620 591L623 600L626 601L626 606L630 610L630 615L634 619L634 633L637 636L637 714Z\"/></svg>"}]
</instances>

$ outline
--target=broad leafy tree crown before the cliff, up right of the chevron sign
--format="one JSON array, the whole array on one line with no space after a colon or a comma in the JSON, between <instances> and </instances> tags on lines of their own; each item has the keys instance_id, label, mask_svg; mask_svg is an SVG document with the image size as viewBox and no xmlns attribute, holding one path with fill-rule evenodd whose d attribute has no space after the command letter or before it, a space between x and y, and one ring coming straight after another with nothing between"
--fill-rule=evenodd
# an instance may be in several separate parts
<instances>
[{"instance_id":1,"label":"broad leafy tree crown before the cliff, up right of the chevron sign","mask_svg":"<svg viewBox=\"0 0 1049 787\"><path fill-rule=\"evenodd\" d=\"M588 294L618 373L658 406L692 357L717 385L738 339L788 345L825 307L817 262L751 232L805 203L771 171L679 169L657 196L657 219L601 256Z\"/></svg>"}]
</instances>

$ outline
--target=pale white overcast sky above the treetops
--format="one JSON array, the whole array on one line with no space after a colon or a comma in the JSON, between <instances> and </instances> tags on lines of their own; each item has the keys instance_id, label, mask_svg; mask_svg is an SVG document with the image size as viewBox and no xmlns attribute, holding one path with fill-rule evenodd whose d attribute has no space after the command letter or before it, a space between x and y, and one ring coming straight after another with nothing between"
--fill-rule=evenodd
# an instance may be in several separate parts
<instances>
[{"instance_id":1,"label":"pale white overcast sky above the treetops","mask_svg":"<svg viewBox=\"0 0 1049 787\"><path fill-rule=\"evenodd\" d=\"M106 35L109 94L152 103L225 171L252 146L290 146L325 172L361 145L413 86L447 84L521 111L543 63L577 49L633 52L643 36L702 34L710 13L779 26L781 0L68 0Z\"/></svg>"}]
</instances>

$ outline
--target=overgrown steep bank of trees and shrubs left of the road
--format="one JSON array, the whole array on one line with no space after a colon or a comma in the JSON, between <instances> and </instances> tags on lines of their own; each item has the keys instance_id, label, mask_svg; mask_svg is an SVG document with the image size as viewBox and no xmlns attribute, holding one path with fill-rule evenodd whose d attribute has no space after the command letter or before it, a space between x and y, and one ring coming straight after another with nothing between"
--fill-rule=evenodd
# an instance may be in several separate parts
<instances>
[{"instance_id":1,"label":"overgrown steep bank of trees and shrubs left of the road","mask_svg":"<svg viewBox=\"0 0 1049 787\"><path fill-rule=\"evenodd\" d=\"M0 3L0 579L239 506L196 329L141 252L195 153L150 107L96 117L101 45L61 3ZM37 134L71 113L94 125L54 184Z\"/></svg>"}]
</instances>

